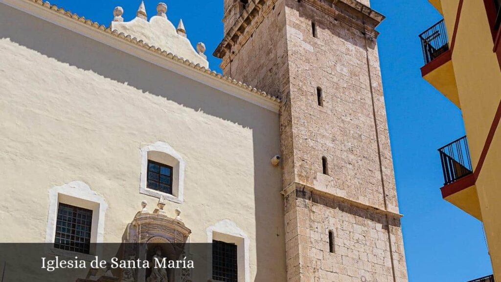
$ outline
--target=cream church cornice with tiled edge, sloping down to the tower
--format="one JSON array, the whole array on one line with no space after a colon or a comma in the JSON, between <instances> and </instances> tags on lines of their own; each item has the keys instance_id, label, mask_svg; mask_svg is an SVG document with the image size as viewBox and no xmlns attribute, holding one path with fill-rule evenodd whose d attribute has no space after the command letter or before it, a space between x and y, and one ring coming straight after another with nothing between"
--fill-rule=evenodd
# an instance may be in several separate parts
<instances>
[{"instance_id":1,"label":"cream church cornice with tiled edge, sloping down to the tower","mask_svg":"<svg viewBox=\"0 0 501 282\"><path fill-rule=\"evenodd\" d=\"M49 2L42 0L0 0L0 3L139 57L164 69L189 77L227 94L274 112L279 111L281 100L276 96L223 76L172 53L167 53L135 37L99 25L97 22L80 17L56 5L51 5Z\"/></svg>"}]
</instances>

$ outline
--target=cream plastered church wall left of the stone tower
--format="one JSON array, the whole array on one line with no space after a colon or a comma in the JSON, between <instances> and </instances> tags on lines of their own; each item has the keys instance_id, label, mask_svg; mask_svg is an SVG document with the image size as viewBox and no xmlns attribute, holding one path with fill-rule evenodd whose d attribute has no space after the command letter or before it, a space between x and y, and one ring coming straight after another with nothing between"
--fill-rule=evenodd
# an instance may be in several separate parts
<instances>
[{"instance_id":1,"label":"cream plastered church wall left of the stone tower","mask_svg":"<svg viewBox=\"0 0 501 282\"><path fill-rule=\"evenodd\" d=\"M0 241L44 242L49 189L83 181L108 203L120 242L140 202L143 146L186 163L191 228L233 221L249 238L251 281L285 280L278 113L0 4Z\"/></svg>"}]
</instances>

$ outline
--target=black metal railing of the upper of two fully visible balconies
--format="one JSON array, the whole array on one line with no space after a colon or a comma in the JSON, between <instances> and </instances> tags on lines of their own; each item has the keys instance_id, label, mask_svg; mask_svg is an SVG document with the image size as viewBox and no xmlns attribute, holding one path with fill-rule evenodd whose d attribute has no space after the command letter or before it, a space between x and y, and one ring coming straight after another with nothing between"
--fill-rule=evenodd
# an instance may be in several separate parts
<instances>
[{"instance_id":1,"label":"black metal railing of the upper of two fully visible balconies","mask_svg":"<svg viewBox=\"0 0 501 282\"><path fill-rule=\"evenodd\" d=\"M449 50L449 39L444 21L433 25L419 35L423 49L424 64L427 64Z\"/></svg>"}]
</instances>

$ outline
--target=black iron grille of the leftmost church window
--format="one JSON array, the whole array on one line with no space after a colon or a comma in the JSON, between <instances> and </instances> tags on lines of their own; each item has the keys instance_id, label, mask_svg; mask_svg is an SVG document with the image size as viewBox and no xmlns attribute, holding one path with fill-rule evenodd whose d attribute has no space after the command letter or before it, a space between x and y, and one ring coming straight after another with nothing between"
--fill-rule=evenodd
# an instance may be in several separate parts
<instances>
[{"instance_id":1,"label":"black iron grille of the leftmost church window","mask_svg":"<svg viewBox=\"0 0 501 282\"><path fill-rule=\"evenodd\" d=\"M92 211L59 203L54 247L89 253L91 244Z\"/></svg>"}]
</instances>

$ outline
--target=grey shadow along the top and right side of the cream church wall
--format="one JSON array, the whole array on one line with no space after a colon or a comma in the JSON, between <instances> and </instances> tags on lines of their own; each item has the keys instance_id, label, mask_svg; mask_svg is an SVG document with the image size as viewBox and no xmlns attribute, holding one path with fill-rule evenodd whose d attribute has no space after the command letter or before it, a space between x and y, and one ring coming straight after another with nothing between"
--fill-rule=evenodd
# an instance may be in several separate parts
<instances>
[{"instance_id":1,"label":"grey shadow along the top and right side of the cream church wall","mask_svg":"<svg viewBox=\"0 0 501 282\"><path fill-rule=\"evenodd\" d=\"M251 255L256 251L258 261L261 259L285 261L283 197L280 195L281 171L280 168L275 168L270 164L270 159L280 152L280 124L277 113L264 111L257 105L0 4L0 42L5 40L79 70L96 73L112 81L139 89L143 95L164 97L183 107L202 111L252 129L257 249L251 250ZM37 62L33 63L37 64ZM45 73L37 74L33 79L50 80L51 77L50 73ZM92 84L96 82L72 81L71 83ZM99 85L89 88L99 90ZM60 94L64 95L65 90L60 90ZM33 91L34 93L27 93L27 95L36 95L36 89ZM92 93L92 95L95 94ZM99 94L106 95L106 93ZM242 114L243 108L248 109L245 111L247 116ZM249 116L249 112L255 114ZM267 126L262 126L263 124ZM125 127L121 128L124 130ZM203 142L203 136L200 142ZM272 187L270 187L270 179L273 179ZM230 207L231 203L228 203L228 208ZM246 228L252 230L252 227ZM253 242L251 242L252 245ZM270 275L274 275L277 280L285 281L285 263L282 264L267 268L274 269L275 273L270 273L271 270L257 271L259 274L255 279L266 280ZM253 267L251 266L251 269Z\"/></svg>"}]
</instances>

